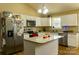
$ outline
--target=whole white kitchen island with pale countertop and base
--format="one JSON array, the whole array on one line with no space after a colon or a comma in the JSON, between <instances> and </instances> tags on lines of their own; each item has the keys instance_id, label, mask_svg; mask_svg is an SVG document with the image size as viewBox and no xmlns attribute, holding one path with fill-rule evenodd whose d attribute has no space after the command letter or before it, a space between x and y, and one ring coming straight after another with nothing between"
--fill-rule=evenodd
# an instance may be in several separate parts
<instances>
[{"instance_id":1,"label":"whole white kitchen island with pale countertop and base","mask_svg":"<svg viewBox=\"0 0 79 59\"><path fill-rule=\"evenodd\" d=\"M27 55L57 55L58 39L63 37L52 33L39 33L37 37L24 34L24 54Z\"/></svg>"}]
</instances>

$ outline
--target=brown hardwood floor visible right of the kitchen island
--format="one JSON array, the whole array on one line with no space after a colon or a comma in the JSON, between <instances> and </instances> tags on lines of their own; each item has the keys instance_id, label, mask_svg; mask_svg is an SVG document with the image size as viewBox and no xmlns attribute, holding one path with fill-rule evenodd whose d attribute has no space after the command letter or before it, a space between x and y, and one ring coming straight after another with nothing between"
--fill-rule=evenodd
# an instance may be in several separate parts
<instances>
[{"instance_id":1,"label":"brown hardwood floor visible right of the kitchen island","mask_svg":"<svg viewBox=\"0 0 79 59\"><path fill-rule=\"evenodd\" d=\"M59 46L59 55L79 55L79 48Z\"/></svg>"}]
</instances>

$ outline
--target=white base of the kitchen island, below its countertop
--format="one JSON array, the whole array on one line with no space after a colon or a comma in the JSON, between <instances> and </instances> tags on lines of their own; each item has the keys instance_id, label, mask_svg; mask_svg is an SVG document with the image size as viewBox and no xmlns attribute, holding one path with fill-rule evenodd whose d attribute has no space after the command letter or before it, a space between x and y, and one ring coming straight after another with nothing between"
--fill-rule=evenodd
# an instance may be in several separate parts
<instances>
[{"instance_id":1,"label":"white base of the kitchen island, below its countertop","mask_svg":"<svg viewBox=\"0 0 79 59\"><path fill-rule=\"evenodd\" d=\"M58 39L48 43L35 43L24 41L24 55L57 55L58 54Z\"/></svg>"}]
</instances>

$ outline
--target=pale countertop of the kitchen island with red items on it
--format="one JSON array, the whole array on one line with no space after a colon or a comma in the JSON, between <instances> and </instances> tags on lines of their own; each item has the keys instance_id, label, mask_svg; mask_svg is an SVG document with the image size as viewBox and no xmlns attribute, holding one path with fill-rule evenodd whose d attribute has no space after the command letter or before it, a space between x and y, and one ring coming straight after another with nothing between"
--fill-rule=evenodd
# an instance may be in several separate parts
<instances>
[{"instance_id":1,"label":"pale countertop of the kitchen island with red items on it","mask_svg":"<svg viewBox=\"0 0 79 59\"><path fill-rule=\"evenodd\" d=\"M50 35L50 37L43 38L44 36L46 36L45 34ZM28 34L24 34L24 40L28 40L36 43L47 43L49 41L56 40L61 37L63 36L59 36L57 34L52 34L52 33L39 33L37 37L28 37Z\"/></svg>"}]
</instances>

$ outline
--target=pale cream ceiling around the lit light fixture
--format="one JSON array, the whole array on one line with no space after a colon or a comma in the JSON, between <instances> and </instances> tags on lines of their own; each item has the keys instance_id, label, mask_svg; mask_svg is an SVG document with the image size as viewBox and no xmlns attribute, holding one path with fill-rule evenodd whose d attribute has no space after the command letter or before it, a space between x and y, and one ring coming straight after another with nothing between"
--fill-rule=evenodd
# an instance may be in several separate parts
<instances>
[{"instance_id":1,"label":"pale cream ceiling around the lit light fixture","mask_svg":"<svg viewBox=\"0 0 79 59\"><path fill-rule=\"evenodd\" d=\"M37 12L42 7L41 3L28 4L33 10ZM49 9L48 14L61 13L64 11L79 9L79 3L45 3L45 6Z\"/></svg>"}]
</instances>

